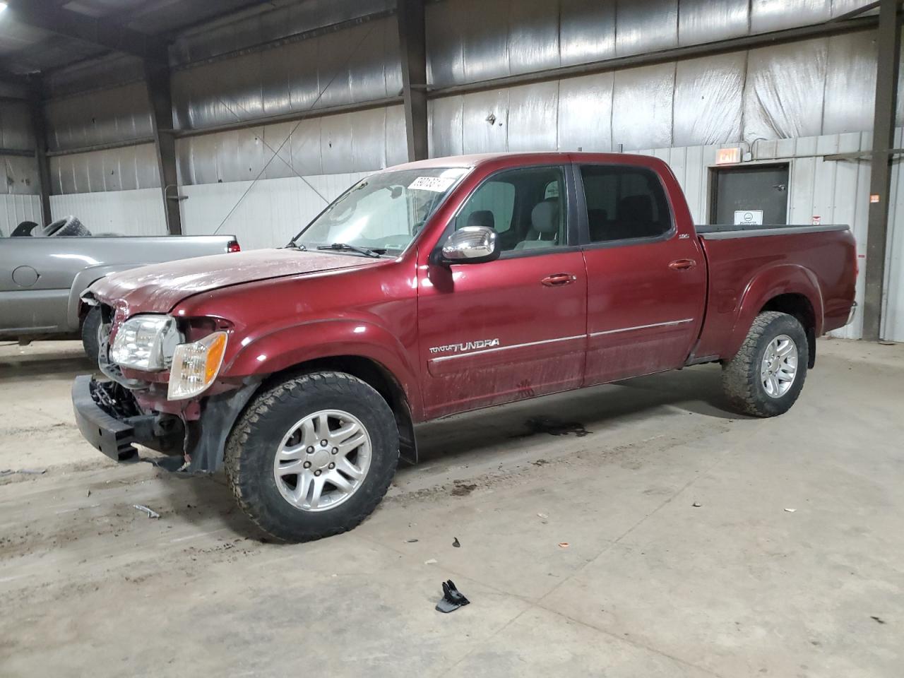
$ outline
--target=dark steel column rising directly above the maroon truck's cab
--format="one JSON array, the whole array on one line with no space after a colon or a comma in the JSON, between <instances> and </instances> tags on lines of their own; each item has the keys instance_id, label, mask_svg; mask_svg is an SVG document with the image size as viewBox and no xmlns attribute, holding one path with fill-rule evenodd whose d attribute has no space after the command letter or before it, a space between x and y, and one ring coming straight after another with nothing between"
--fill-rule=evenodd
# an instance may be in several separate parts
<instances>
[{"instance_id":1,"label":"dark steel column rising directly above the maroon truck's cab","mask_svg":"<svg viewBox=\"0 0 904 678\"><path fill-rule=\"evenodd\" d=\"M408 159L424 160L427 141L427 40L424 0L399 0L402 98Z\"/></svg>"}]
</instances>

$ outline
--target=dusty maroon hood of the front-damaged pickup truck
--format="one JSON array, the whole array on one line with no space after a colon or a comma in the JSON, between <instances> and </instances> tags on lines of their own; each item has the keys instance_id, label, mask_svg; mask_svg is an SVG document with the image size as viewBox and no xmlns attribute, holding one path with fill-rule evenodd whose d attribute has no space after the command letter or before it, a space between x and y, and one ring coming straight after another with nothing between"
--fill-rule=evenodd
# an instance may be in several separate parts
<instances>
[{"instance_id":1,"label":"dusty maroon hood of the front-damaged pickup truck","mask_svg":"<svg viewBox=\"0 0 904 678\"><path fill-rule=\"evenodd\" d=\"M128 317L143 312L167 313L187 297L222 287L379 263L381 259L351 254L250 250L134 268L99 279L89 292Z\"/></svg>"}]
</instances>

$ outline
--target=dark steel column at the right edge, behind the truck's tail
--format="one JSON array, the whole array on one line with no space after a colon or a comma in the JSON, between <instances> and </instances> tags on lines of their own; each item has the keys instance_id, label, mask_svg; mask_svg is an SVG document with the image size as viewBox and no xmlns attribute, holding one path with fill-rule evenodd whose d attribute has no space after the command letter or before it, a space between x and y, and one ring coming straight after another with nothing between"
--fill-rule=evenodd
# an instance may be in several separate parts
<instances>
[{"instance_id":1,"label":"dark steel column at the right edge, behind the truck's tail","mask_svg":"<svg viewBox=\"0 0 904 678\"><path fill-rule=\"evenodd\" d=\"M866 236L866 276L863 296L863 338L881 338L885 248L889 233L891 153L895 137L900 61L899 0L881 0L876 42L876 108L872 122L870 213Z\"/></svg>"}]
</instances>

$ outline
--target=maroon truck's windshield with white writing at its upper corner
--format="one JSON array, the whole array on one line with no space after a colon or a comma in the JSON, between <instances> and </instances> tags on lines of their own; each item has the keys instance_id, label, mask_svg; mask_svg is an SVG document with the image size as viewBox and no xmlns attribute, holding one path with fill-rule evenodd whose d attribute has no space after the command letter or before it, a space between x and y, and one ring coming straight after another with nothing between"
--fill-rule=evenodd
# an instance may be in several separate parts
<instances>
[{"instance_id":1,"label":"maroon truck's windshield with white writing at its upper corner","mask_svg":"<svg viewBox=\"0 0 904 678\"><path fill-rule=\"evenodd\" d=\"M341 243L377 254L408 247L466 167L378 172L354 184L292 239L308 250Z\"/></svg>"}]
</instances>

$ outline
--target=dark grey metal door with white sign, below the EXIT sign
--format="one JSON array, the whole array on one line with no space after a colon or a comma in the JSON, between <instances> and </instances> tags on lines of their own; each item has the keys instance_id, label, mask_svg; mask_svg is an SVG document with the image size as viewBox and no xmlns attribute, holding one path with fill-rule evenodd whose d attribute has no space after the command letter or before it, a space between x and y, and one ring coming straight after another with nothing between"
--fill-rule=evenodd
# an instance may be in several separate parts
<instances>
[{"instance_id":1,"label":"dark grey metal door with white sign, below the EXIT sign","mask_svg":"<svg viewBox=\"0 0 904 678\"><path fill-rule=\"evenodd\" d=\"M712 174L711 223L787 223L788 165L722 167Z\"/></svg>"}]
</instances>

